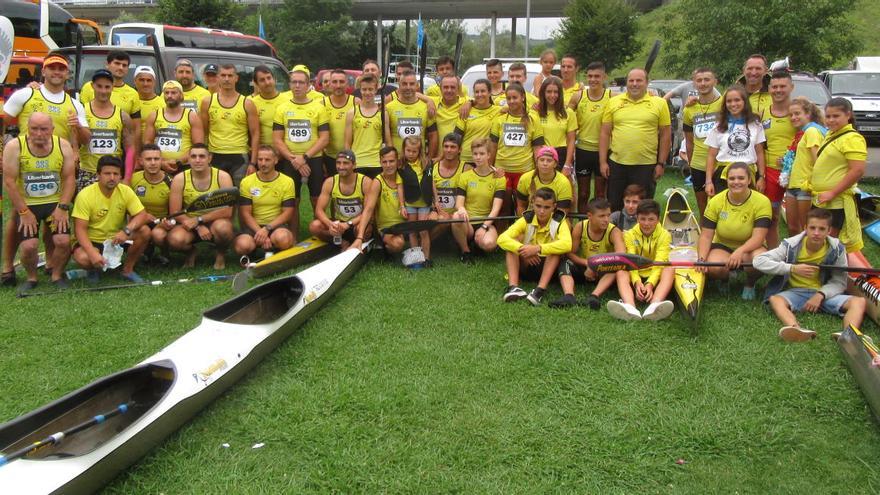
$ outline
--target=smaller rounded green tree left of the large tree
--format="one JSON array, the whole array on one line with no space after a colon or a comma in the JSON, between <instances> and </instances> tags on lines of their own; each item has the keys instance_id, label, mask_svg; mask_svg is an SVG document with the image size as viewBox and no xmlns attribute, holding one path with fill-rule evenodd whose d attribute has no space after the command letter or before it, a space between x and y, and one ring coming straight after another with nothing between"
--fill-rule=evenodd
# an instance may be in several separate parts
<instances>
[{"instance_id":1,"label":"smaller rounded green tree left of the large tree","mask_svg":"<svg viewBox=\"0 0 880 495\"><path fill-rule=\"evenodd\" d=\"M593 60L608 71L638 50L636 12L624 0L572 0L556 33L559 55L571 53L582 65Z\"/></svg>"}]
</instances>

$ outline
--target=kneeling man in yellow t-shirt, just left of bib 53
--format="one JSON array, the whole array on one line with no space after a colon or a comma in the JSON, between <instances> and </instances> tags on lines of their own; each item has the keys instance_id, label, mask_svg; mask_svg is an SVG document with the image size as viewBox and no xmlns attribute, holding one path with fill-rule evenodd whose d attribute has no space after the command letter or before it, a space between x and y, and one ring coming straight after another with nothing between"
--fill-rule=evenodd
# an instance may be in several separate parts
<instances>
[{"instance_id":1,"label":"kneeling man in yellow t-shirt, just left of bib 53","mask_svg":"<svg viewBox=\"0 0 880 495\"><path fill-rule=\"evenodd\" d=\"M277 164L275 149L261 144L257 150L257 171L241 181L241 233L233 247L239 256L249 255L257 248L283 251L296 242L296 235L288 228L293 217L293 179L275 170Z\"/></svg>"}]
</instances>

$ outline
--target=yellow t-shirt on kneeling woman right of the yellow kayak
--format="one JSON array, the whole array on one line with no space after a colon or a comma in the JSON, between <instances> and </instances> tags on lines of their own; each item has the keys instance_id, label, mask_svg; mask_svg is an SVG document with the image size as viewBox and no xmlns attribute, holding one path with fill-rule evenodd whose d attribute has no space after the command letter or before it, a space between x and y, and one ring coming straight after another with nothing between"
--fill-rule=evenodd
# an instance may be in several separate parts
<instances>
[{"instance_id":1,"label":"yellow t-shirt on kneeling woman right of the yellow kayak","mask_svg":"<svg viewBox=\"0 0 880 495\"><path fill-rule=\"evenodd\" d=\"M716 194L706 205L703 228L715 230L713 243L737 249L752 237L755 228L770 227L773 211L767 196L749 191L749 197L740 205L727 198L728 193Z\"/></svg>"}]
</instances>

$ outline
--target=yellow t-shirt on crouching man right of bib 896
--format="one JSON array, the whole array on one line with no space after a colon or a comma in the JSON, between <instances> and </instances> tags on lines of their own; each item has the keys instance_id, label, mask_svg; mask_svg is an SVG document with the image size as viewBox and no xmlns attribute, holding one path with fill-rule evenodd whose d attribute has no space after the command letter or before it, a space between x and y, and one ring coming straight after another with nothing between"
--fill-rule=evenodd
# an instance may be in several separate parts
<instances>
[{"instance_id":1,"label":"yellow t-shirt on crouching man right of bib 896","mask_svg":"<svg viewBox=\"0 0 880 495\"><path fill-rule=\"evenodd\" d=\"M89 222L89 240L102 243L125 227L125 216L144 211L144 205L134 191L125 184L113 188L110 197L104 196L100 185L95 183L83 188L76 195L73 218Z\"/></svg>"}]
</instances>

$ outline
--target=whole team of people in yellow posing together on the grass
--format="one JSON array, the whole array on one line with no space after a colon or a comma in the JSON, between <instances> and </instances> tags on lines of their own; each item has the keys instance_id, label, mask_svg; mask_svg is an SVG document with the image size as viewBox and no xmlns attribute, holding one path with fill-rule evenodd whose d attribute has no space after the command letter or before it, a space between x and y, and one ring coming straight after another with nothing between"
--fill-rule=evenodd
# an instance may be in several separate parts
<instances>
[{"instance_id":1,"label":"whole team of people in yellow posing together on the grass","mask_svg":"<svg viewBox=\"0 0 880 495\"><path fill-rule=\"evenodd\" d=\"M218 269L229 248L241 255L283 250L297 241L305 183L314 211L309 232L342 248L377 237L389 253L407 245L421 251L430 266L431 241L445 229L463 262L475 251L507 251L505 301L539 304L558 279L563 297L551 304L570 306L577 303L576 283L596 281L590 307L598 308L602 293L616 285L621 300L609 303L613 315L664 318L672 312L670 270L599 277L586 259L612 251L655 261L668 256L671 239L652 198L672 142L669 105L649 90L642 69L631 70L617 94L606 87L601 62L586 66L582 84L575 57L561 57L561 77L553 75L555 53L541 61L534 92L525 89L524 64L510 64L505 80L504 65L490 60L486 78L466 88L452 59L441 57L438 84L425 94L411 64L398 64L398 87L391 89L368 60L356 88L348 88L344 71L329 71L325 93L310 85L303 65L290 70L286 92L278 91L268 67L258 66L254 93L245 96L236 90L235 66L207 67L215 84L205 89L194 82L193 64L181 59L175 79L157 96L154 71L137 67L132 88L125 83L129 56L113 51L78 101L64 91L68 61L52 55L44 82L4 105L20 136L3 155L15 213L2 277L15 283L18 248L27 270L23 289L36 285L41 228L59 287L67 284L70 256L97 277L108 240L128 246L121 274L135 282L142 281L135 264L148 250L159 261L183 252L192 265L195 244L209 241ZM859 251L852 188L864 171L866 145L852 128L849 102L835 98L823 112L805 98L792 99L791 76L768 73L761 55L746 60L739 84L720 93L717 83L712 69L696 69L683 108L702 225L699 257L726 263L709 276L724 279L750 262L760 269L758 259L777 246L815 247L801 242L809 232L800 232L827 220L810 213L816 207L830 214L826 236L839 235L846 252ZM238 204L187 212L200 195L226 187L239 188ZM789 232L801 237L780 244L783 204ZM573 211L588 218L572 225ZM495 219L512 213L520 218L509 227ZM450 222L433 231L387 230L428 219ZM804 253L794 260L818 256ZM806 272L788 283L809 279L814 287L826 275ZM538 280L531 292L519 287L523 276ZM758 276L749 273L743 298L754 298ZM648 303L644 312L636 301ZM797 301L771 301L780 311L798 309ZM836 309L859 304L864 307L847 300Z\"/></svg>"}]
</instances>

